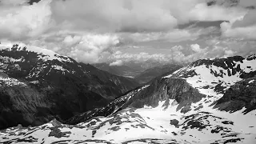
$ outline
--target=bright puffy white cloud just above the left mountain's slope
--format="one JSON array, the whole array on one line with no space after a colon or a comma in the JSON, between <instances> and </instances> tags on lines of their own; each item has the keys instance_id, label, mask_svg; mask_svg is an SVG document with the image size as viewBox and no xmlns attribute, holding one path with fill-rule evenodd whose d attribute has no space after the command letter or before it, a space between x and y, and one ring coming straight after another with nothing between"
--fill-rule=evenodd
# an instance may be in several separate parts
<instances>
[{"instance_id":1,"label":"bright puffy white cloud just above the left mountain's slope","mask_svg":"<svg viewBox=\"0 0 256 144\"><path fill-rule=\"evenodd\" d=\"M120 43L116 34L48 34L41 40L26 41L30 46L38 46L74 58L78 62L106 62Z\"/></svg>"}]
</instances>

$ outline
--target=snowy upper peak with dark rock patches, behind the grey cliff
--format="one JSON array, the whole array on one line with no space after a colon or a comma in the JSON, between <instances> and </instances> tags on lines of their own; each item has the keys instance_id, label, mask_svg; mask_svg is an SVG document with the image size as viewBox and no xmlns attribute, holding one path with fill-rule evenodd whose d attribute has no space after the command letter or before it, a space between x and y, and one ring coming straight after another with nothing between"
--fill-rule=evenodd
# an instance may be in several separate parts
<instances>
[{"instance_id":1,"label":"snowy upper peak with dark rock patches, behind the grey cliff","mask_svg":"<svg viewBox=\"0 0 256 144\"><path fill-rule=\"evenodd\" d=\"M163 78L183 78L202 94L222 96L227 90L243 78L251 77L256 71L256 54L241 56L200 59Z\"/></svg>"}]
</instances>

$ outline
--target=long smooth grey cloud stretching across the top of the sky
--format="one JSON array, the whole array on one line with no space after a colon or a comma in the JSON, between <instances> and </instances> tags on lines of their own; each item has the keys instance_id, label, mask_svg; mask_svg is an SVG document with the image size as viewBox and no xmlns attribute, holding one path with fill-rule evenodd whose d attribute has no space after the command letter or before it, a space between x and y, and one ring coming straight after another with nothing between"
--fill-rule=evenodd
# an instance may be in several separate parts
<instances>
[{"instance_id":1,"label":"long smooth grey cloud stretching across the top of the sky","mask_svg":"<svg viewBox=\"0 0 256 144\"><path fill-rule=\"evenodd\" d=\"M191 21L230 21L245 10L207 6L202 0L54 0L54 20L66 29L107 32L173 30Z\"/></svg>"}]
</instances>

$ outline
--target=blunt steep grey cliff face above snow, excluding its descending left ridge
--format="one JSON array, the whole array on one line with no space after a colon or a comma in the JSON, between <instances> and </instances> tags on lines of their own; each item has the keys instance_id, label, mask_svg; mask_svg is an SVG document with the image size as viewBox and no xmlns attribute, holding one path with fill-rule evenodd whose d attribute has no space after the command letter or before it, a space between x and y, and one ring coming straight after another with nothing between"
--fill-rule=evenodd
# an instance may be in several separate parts
<instances>
[{"instance_id":1,"label":"blunt steep grey cliff face above snow, excluding its descending left ridge","mask_svg":"<svg viewBox=\"0 0 256 144\"><path fill-rule=\"evenodd\" d=\"M164 106L169 106L170 99L178 102L178 110L186 113L192 102L199 102L205 95L190 86L184 79L180 78L159 78L152 82L140 94L134 95L130 100L130 106L141 108L143 106L158 106L159 101L166 101Z\"/></svg>"}]
</instances>

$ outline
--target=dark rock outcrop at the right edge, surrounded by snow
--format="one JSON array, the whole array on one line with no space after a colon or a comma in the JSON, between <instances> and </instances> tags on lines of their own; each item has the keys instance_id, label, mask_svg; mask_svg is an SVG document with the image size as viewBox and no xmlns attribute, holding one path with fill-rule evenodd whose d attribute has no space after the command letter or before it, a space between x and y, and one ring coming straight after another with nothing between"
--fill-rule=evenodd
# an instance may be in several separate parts
<instances>
[{"instance_id":1,"label":"dark rock outcrop at the right edge, surrounded by snow","mask_svg":"<svg viewBox=\"0 0 256 144\"><path fill-rule=\"evenodd\" d=\"M216 102L214 108L235 112L246 107L244 113L256 109L256 78L248 78L237 82L222 98Z\"/></svg>"}]
</instances>

